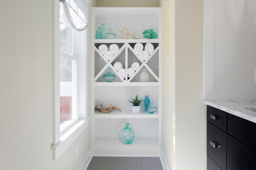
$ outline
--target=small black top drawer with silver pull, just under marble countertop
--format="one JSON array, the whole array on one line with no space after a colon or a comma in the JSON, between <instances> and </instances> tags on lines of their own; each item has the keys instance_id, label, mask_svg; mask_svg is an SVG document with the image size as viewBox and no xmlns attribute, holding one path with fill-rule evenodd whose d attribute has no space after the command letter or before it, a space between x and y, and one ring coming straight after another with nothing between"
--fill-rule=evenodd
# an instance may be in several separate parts
<instances>
[{"instance_id":1,"label":"small black top drawer with silver pull, just under marble countertop","mask_svg":"<svg viewBox=\"0 0 256 170\"><path fill-rule=\"evenodd\" d=\"M207 106L207 121L227 132L227 113Z\"/></svg>"}]
</instances>

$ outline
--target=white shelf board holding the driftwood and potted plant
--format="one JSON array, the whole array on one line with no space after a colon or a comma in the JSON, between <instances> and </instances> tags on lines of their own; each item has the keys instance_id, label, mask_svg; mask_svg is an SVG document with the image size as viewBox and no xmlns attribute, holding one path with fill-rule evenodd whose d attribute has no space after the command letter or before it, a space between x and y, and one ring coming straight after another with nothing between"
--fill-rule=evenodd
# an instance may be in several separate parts
<instances>
[{"instance_id":1,"label":"white shelf board holding the driftwood and potted plant","mask_svg":"<svg viewBox=\"0 0 256 170\"><path fill-rule=\"evenodd\" d=\"M112 111L112 113L95 112L95 118L159 118L159 113L132 113L127 111Z\"/></svg>"}]
</instances>

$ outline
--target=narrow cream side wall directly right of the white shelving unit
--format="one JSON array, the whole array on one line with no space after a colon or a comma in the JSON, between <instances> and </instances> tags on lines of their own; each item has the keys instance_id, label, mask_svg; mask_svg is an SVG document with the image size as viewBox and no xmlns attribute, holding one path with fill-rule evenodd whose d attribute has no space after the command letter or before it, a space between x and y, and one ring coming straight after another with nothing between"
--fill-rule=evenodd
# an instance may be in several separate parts
<instances>
[{"instance_id":1,"label":"narrow cream side wall directly right of the white shelving unit","mask_svg":"<svg viewBox=\"0 0 256 170\"><path fill-rule=\"evenodd\" d=\"M162 148L175 169L175 0L161 0L162 8Z\"/></svg>"}]
</instances>

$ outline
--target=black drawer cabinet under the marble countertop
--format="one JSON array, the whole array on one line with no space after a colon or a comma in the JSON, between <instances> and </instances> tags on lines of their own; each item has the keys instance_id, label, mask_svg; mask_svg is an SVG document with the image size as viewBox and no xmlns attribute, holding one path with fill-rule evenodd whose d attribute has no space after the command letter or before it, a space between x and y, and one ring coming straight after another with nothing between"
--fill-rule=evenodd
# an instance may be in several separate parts
<instances>
[{"instance_id":1,"label":"black drawer cabinet under the marble countertop","mask_svg":"<svg viewBox=\"0 0 256 170\"><path fill-rule=\"evenodd\" d=\"M255 170L256 123L207 106L207 169Z\"/></svg>"}]
</instances>

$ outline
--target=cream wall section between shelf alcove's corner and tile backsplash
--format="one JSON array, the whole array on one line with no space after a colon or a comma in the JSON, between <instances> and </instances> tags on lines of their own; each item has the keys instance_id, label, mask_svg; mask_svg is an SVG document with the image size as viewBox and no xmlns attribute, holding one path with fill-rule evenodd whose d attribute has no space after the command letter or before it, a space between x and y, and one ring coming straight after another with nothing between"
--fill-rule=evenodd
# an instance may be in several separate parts
<instances>
[{"instance_id":1,"label":"cream wall section between shelf alcove's corner and tile backsplash","mask_svg":"<svg viewBox=\"0 0 256 170\"><path fill-rule=\"evenodd\" d=\"M206 169L202 10L202 0L175 4L176 170Z\"/></svg>"}]
</instances>

